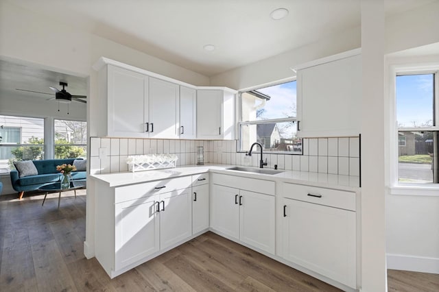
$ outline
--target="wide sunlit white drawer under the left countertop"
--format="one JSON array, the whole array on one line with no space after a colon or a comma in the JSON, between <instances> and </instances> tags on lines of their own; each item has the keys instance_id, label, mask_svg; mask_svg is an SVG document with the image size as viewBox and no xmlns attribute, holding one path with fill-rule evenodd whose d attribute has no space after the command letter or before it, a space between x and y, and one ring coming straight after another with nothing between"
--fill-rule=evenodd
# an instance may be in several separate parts
<instances>
[{"instance_id":1,"label":"wide sunlit white drawer under the left countertop","mask_svg":"<svg viewBox=\"0 0 439 292\"><path fill-rule=\"evenodd\" d=\"M191 186L191 177L172 178L169 180L158 180L155 182L144 182L130 186L119 186L115 188L115 204L126 202L131 199L150 197L171 191L188 188Z\"/></svg>"}]
</instances>

